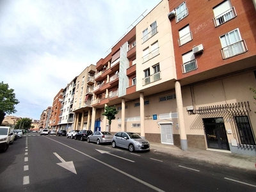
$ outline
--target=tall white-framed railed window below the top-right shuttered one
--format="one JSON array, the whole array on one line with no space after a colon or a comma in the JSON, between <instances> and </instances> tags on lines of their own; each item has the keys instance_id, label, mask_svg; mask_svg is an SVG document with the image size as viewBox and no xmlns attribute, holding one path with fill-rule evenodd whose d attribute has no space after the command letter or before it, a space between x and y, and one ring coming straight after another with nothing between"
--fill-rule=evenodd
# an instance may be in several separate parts
<instances>
[{"instance_id":1,"label":"tall white-framed railed window below the top-right shuttered one","mask_svg":"<svg viewBox=\"0 0 256 192\"><path fill-rule=\"evenodd\" d=\"M247 51L246 44L244 40L241 39L239 29L235 29L234 31L230 31L225 35L220 36L220 41L223 59L227 59Z\"/></svg>"}]
</instances>

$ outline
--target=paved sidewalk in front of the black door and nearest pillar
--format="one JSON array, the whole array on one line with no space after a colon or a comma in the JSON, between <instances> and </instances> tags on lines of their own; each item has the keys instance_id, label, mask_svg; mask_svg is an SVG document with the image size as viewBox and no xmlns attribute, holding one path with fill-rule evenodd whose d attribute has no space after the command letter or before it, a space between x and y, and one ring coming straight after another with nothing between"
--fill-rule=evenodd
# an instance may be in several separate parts
<instances>
[{"instance_id":1,"label":"paved sidewalk in front of the black door and nearest pillar","mask_svg":"<svg viewBox=\"0 0 256 192\"><path fill-rule=\"evenodd\" d=\"M256 156L246 156L241 154L231 154L230 152L220 152L214 150L201 150L198 148L188 148L181 150L174 145L150 142L150 151L170 154L177 157L187 157L197 161L205 161L212 164L221 164L244 170L256 172Z\"/></svg>"}]
</instances>

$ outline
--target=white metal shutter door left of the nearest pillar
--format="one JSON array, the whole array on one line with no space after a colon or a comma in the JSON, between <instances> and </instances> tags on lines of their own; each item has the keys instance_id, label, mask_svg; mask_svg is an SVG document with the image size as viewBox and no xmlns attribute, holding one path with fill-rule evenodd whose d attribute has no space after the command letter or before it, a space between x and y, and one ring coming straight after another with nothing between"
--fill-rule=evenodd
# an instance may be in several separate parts
<instances>
[{"instance_id":1,"label":"white metal shutter door left of the nearest pillar","mask_svg":"<svg viewBox=\"0 0 256 192\"><path fill-rule=\"evenodd\" d=\"M173 144L172 124L160 124L161 126L161 143Z\"/></svg>"}]
</instances>

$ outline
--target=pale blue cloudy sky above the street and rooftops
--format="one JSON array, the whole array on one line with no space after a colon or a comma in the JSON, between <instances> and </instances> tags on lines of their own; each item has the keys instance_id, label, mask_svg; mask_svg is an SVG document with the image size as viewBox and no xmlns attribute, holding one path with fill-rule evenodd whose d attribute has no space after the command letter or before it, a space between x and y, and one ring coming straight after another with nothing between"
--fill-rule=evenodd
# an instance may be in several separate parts
<instances>
[{"instance_id":1,"label":"pale blue cloudy sky above the street and rooftops","mask_svg":"<svg viewBox=\"0 0 256 192\"><path fill-rule=\"evenodd\" d=\"M19 100L10 115L39 120L61 88L160 2L0 0L0 81Z\"/></svg>"}]
</instances>

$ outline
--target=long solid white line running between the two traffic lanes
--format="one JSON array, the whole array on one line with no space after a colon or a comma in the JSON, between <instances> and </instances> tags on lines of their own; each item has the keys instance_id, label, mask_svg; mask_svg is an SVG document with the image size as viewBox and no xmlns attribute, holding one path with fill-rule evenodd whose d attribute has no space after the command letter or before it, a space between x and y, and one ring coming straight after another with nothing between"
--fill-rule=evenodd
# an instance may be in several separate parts
<instances>
[{"instance_id":1,"label":"long solid white line running between the two traffic lanes","mask_svg":"<svg viewBox=\"0 0 256 192\"><path fill-rule=\"evenodd\" d=\"M45 137L45 138L47 138L47 137ZM51 138L47 138L47 139L52 140ZM101 164L104 164L105 166L108 166L109 168L115 170L116 172L122 173L123 175L126 175L127 177L130 177L131 179L134 179L134 180L140 182L141 184L144 184L148 188L154 189L155 191L164 192L162 189L159 189L159 188L157 188L155 186L152 186L151 184L149 184L149 183L147 183L147 182L145 182L145 181L143 181L141 179L138 179L137 177L134 177L134 176L130 175L129 173L125 173L122 170L118 170L118 168L115 168L114 166L111 166L111 165L109 165L107 163L104 163L103 161L100 161L99 159L96 159L96 158L94 158L92 156L89 156L88 154L84 154L83 152L77 150L76 148L69 147L68 145L65 145L64 143L61 143L61 142L56 141L56 140L52 140L52 141L55 141L56 143L60 143L61 145L65 146L65 147L68 147L68 148L71 148L72 150L75 150L76 152L79 152L80 154L83 154L84 156L89 157L90 159L93 159L94 161L97 161L97 162L99 162Z\"/></svg>"}]
</instances>

